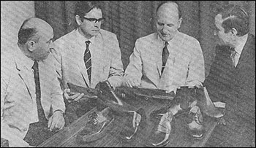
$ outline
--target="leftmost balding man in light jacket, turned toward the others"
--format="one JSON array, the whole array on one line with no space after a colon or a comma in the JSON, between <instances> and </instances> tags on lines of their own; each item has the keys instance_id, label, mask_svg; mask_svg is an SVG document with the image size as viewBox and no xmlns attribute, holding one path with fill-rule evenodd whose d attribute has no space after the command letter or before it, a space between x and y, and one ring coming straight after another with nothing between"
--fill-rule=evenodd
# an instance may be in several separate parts
<instances>
[{"instance_id":1,"label":"leftmost balding man in light jacket, turned toward the others","mask_svg":"<svg viewBox=\"0 0 256 148\"><path fill-rule=\"evenodd\" d=\"M53 28L25 20L16 49L1 55L1 141L37 146L64 127L65 104L50 54Z\"/></svg>"}]
</instances>

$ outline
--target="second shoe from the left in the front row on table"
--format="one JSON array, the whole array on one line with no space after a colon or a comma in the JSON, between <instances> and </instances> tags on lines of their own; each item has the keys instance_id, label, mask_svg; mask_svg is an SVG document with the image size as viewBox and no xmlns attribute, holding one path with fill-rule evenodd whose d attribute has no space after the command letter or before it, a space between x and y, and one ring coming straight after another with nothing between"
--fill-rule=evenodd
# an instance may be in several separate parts
<instances>
[{"instance_id":1,"label":"second shoe from the left in the front row on table","mask_svg":"<svg viewBox=\"0 0 256 148\"><path fill-rule=\"evenodd\" d=\"M120 138L124 141L131 141L139 130L146 128L146 112L140 108L137 112L129 111L124 114L127 120L120 133Z\"/></svg>"}]
</instances>

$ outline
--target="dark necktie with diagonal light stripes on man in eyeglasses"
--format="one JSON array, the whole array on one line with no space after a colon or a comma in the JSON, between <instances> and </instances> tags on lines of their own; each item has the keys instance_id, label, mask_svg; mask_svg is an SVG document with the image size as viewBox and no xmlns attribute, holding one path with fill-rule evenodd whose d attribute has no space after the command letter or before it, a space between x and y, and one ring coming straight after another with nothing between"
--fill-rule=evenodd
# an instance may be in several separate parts
<instances>
[{"instance_id":1,"label":"dark necktie with diagonal light stripes on man in eyeglasses","mask_svg":"<svg viewBox=\"0 0 256 148\"><path fill-rule=\"evenodd\" d=\"M83 61L86 64L88 78L91 83L91 52L89 50L90 43L91 43L90 41L86 41L86 51L84 52L84 55L83 55Z\"/></svg>"}]
</instances>

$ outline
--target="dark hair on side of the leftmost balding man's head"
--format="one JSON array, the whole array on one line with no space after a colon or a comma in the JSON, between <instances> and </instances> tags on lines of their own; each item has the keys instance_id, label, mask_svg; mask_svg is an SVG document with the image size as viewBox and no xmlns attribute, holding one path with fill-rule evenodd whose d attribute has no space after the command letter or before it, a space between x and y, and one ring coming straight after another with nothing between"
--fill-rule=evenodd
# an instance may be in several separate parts
<instances>
[{"instance_id":1,"label":"dark hair on side of the leftmost balding man's head","mask_svg":"<svg viewBox=\"0 0 256 148\"><path fill-rule=\"evenodd\" d=\"M26 23L30 20L26 19L24 20L23 24L20 26L20 30L18 31L18 43L19 44L26 44L29 40L32 40L34 42L38 42L39 38L34 38L34 36L37 34L37 29L36 28L24 28Z\"/></svg>"}]
</instances>

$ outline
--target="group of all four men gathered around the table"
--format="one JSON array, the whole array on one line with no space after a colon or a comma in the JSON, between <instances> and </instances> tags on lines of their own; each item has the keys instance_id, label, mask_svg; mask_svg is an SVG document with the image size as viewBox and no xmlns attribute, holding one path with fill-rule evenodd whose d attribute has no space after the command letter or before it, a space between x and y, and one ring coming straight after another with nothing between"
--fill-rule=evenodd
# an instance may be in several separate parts
<instances>
[{"instance_id":1,"label":"group of all four men gathered around the table","mask_svg":"<svg viewBox=\"0 0 256 148\"><path fill-rule=\"evenodd\" d=\"M67 104L85 108L80 101L84 94L70 93L67 82L94 88L108 80L114 88L124 85L167 92L204 84L213 101L227 102L230 125L239 131L227 132L222 144L232 137L247 137L236 144L255 145L255 37L249 34L244 9L229 5L223 10L215 17L214 35L220 41L206 79L200 43L178 31L181 11L173 1L157 7L157 32L137 39L125 71L118 39L101 29L104 17L96 2L79 2L78 28L57 39L54 46L48 23L37 17L25 20L18 33L18 50L1 56L1 138L10 147L37 146L33 138L38 130L48 131L47 139L64 127ZM231 123L234 120L241 122Z\"/></svg>"}]
</instances>

